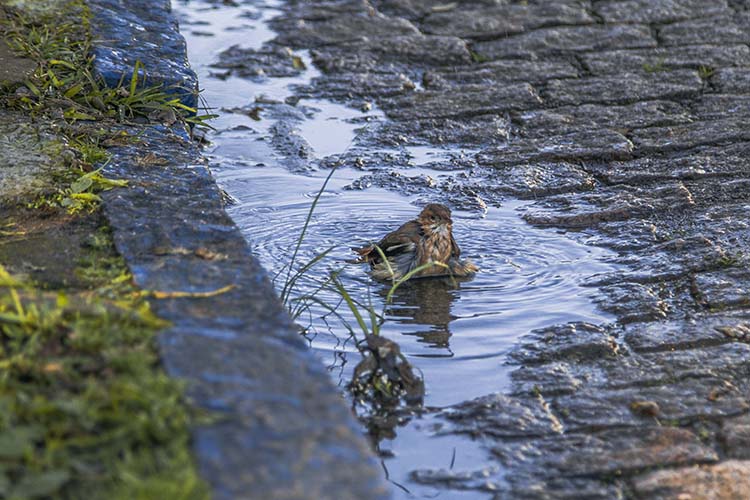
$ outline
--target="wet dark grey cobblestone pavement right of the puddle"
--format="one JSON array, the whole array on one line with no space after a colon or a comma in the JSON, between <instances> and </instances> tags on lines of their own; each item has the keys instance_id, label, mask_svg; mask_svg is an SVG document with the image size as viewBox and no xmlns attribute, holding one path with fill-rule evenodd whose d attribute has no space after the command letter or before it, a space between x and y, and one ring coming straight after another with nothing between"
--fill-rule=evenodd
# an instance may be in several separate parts
<instances>
[{"instance_id":1,"label":"wet dark grey cobblestone pavement right of the puddle","mask_svg":"<svg viewBox=\"0 0 750 500\"><path fill-rule=\"evenodd\" d=\"M323 70L298 94L389 118L361 144L477 151L455 166L460 188L393 181L382 158L345 154L364 187L470 209L535 199L529 223L575 229L626 266L591 283L616 323L522 338L508 395L438 416L494 466L412 479L496 498L750 497L750 3L282 8L276 42ZM288 57L269 54L256 70Z\"/></svg>"}]
</instances>

